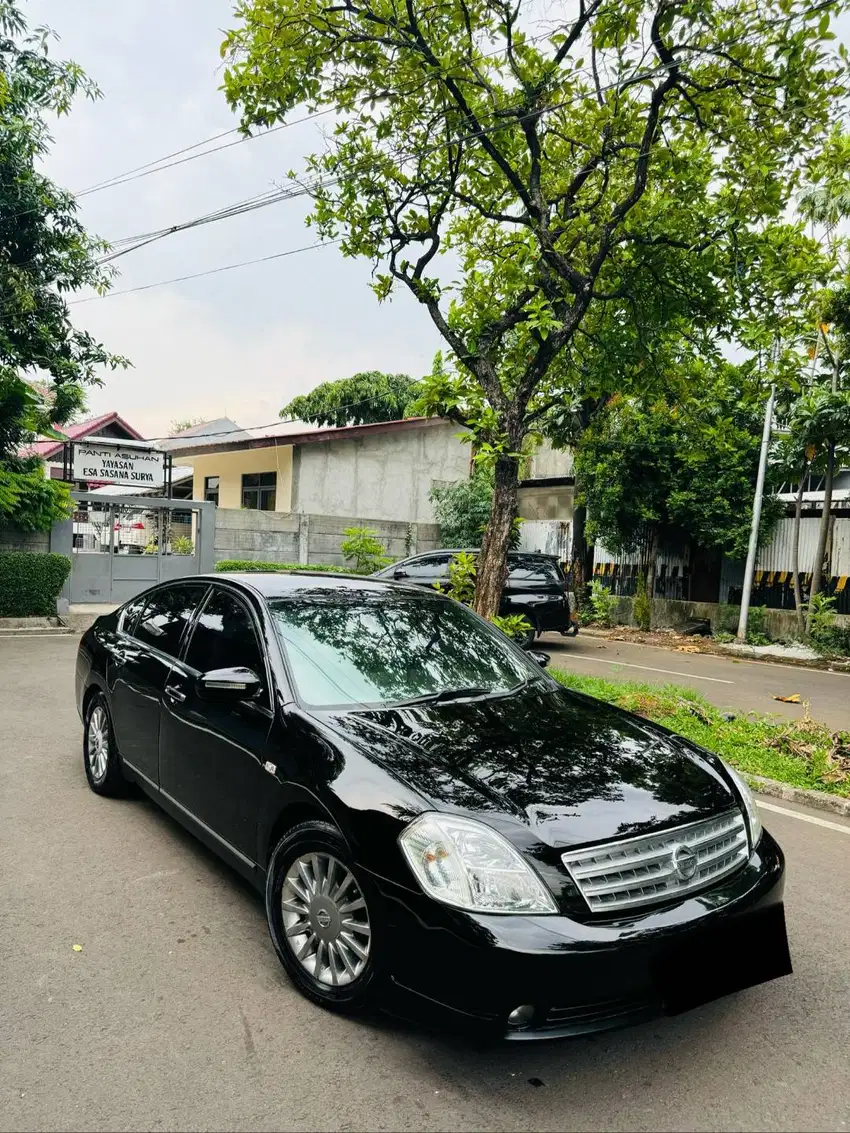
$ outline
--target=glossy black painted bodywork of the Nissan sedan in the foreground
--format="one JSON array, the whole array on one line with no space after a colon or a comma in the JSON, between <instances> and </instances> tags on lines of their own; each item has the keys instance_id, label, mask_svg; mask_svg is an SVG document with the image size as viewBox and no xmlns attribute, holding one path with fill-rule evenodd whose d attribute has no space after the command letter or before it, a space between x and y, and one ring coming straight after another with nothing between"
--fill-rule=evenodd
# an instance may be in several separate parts
<instances>
[{"instance_id":1,"label":"glossy black painted bodywork of the Nissan sedan in the foreground","mask_svg":"<svg viewBox=\"0 0 850 1133\"><path fill-rule=\"evenodd\" d=\"M142 645L118 611L80 644L79 710L104 690L127 776L258 887L282 832L311 816L333 821L383 895L396 1010L501 1033L507 1013L530 1003L535 1025L511 1037L581 1033L678 1010L660 972L682 948L743 954L748 939L764 938L757 978L790 970L779 925L783 861L768 834L719 885L619 921L590 914L561 863L569 846L738 806L715 757L566 691L530 661L529 683L503 697L308 710L294 695L266 600L342 588L393 603L417 591L306 573L199 581L206 600L213 587L248 611L265 662L262 697L205 698L201 671L185 661L197 611L177 657ZM427 897L397 838L432 809L498 828L528 855L560 913L467 913Z\"/></svg>"}]
</instances>

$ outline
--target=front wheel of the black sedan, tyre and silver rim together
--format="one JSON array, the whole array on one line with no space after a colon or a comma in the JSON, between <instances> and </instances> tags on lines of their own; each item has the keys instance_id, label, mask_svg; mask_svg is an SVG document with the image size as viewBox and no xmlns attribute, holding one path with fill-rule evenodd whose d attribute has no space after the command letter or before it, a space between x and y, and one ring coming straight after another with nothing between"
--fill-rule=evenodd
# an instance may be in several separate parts
<instances>
[{"instance_id":1,"label":"front wheel of the black sedan, tyre and silver rim together","mask_svg":"<svg viewBox=\"0 0 850 1133\"><path fill-rule=\"evenodd\" d=\"M380 894L352 864L335 826L300 823L280 840L269 862L265 914L278 959L301 995L341 1014L374 1006L383 974ZM301 926L304 932L294 931Z\"/></svg>"}]
</instances>

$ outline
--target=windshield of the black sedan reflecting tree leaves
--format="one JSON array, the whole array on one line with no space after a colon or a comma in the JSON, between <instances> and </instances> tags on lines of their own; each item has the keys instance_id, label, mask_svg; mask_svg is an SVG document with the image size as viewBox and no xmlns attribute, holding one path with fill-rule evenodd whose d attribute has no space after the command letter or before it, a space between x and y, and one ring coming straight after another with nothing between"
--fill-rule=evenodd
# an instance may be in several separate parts
<instances>
[{"instance_id":1,"label":"windshield of the black sedan reflecting tree leaves","mask_svg":"<svg viewBox=\"0 0 850 1133\"><path fill-rule=\"evenodd\" d=\"M269 608L298 696L314 707L500 693L539 675L499 630L444 598L303 590Z\"/></svg>"}]
</instances>

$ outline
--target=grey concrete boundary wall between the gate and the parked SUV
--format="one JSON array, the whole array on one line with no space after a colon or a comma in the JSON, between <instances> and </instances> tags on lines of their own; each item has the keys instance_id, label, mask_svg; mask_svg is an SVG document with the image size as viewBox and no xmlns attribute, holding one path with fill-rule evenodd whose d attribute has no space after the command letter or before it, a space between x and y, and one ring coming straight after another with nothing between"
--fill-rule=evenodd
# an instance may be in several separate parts
<instances>
[{"instance_id":1,"label":"grey concrete boundary wall between the gate and the parked SUV","mask_svg":"<svg viewBox=\"0 0 850 1133\"><path fill-rule=\"evenodd\" d=\"M218 508L215 562L247 559L252 562L343 566L340 544L346 538L347 527L367 527L376 531L386 555L393 560L440 546L440 529L435 523L399 523L362 516L284 516L280 512Z\"/></svg>"}]
</instances>

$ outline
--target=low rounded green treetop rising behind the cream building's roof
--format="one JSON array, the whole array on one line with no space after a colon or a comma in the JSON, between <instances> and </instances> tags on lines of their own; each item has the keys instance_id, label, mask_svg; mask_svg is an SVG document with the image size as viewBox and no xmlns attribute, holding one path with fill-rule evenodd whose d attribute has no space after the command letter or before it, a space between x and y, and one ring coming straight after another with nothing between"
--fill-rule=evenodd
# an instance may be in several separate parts
<instances>
[{"instance_id":1,"label":"low rounded green treetop rising behind the cream building's roof","mask_svg":"<svg viewBox=\"0 0 850 1133\"><path fill-rule=\"evenodd\" d=\"M283 406L280 416L337 427L396 421L411 416L409 407L418 392L419 383L407 374L371 369L337 382L323 382Z\"/></svg>"}]
</instances>

